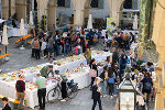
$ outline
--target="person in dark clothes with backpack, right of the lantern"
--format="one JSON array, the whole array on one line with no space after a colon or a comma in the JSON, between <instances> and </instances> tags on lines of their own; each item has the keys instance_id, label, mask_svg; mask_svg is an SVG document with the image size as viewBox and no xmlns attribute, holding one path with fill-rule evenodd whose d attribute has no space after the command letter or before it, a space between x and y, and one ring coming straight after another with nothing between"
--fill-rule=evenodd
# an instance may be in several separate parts
<instances>
[{"instance_id":1,"label":"person in dark clothes with backpack, right of the lantern","mask_svg":"<svg viewBox=\"0 0 165 110\"><path fill-rule=\"evenodd\" d=\"M148 102L150 100L150 94L152 91L153 88L153 80L151 78L150 73L146 73L144 75L144 78L141 80L143 88L142 88L142 94L146 95L146 102Z\"/></svg>"}]
</instances>

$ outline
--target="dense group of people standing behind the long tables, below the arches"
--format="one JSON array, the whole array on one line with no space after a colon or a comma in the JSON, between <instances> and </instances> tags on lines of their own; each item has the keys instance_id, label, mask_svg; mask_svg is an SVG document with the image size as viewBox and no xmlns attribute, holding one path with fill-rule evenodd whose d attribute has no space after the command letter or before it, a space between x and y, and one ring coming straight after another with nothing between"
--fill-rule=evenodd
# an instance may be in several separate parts
<instances>
[{"instance_id":1,"label":"dense group of people standing behind the long tables, below the arches","mask_svg":"<svg viewBox=\"0 0 165 110\"><path fill-rule=\"evenodd\" d=\"M70 55L70 54L81 54L86 53L89 46L92 46L94 38L97 32L90 30L86 37L84 37L84 32L76 32L72 29L67 31L55 33L40 33L31 42L32 45L32 57L40 59L48 57L48 61L53 56L58 55Z\"/></svg>"}]
</instances>

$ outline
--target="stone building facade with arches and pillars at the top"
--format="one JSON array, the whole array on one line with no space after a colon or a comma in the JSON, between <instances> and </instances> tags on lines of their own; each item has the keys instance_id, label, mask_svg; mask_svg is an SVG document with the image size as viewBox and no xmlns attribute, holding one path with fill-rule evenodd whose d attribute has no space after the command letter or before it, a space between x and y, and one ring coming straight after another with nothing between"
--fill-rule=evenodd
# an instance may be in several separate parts
<instances>
[{"instance_id":1,"label":"stone building facade with arches and pillars at the top","mask_svg":"<svg viewBox=\"0 0 165 110\"><path fill-rule=\"evenodd\" d=\"M128 0L2 0L2 18L7 20L16 13L19 21L23 18L29 22L30 11L35 10L37 21L41 23L43 15L46 15L47 28L53 29L57 21L68 24L70 18L75 26L82 26L85 18L91 13L94 19L114 18L119 25L119 12L124 1ZM133 7L133 9L138 8Z\"/></svg>"}]
</instances>

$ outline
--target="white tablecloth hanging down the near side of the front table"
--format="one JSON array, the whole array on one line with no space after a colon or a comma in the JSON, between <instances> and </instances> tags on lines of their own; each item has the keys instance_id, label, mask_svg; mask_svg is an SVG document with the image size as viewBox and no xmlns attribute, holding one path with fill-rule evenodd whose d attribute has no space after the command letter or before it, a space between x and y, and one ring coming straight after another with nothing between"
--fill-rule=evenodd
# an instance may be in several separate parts
<instances>
[{"instance_id":1,"label":"white tablecloth hanging down the near side of the front table","mask_svg":"<svg viewBox=\"0 0 165 110\"><path fill-rule=\"evenodd\" d=\"M90 85L90 77L89 77L89 68L86 68L86 73L72 75L68 79L74 79L75 82L78 82L78 89L82 89ZM46 87L46 92L48 92L56 84L48 82ZM35 106L38 106L37 100L37 89L26 89L26 103L28 107L34 109ZM7 82L0 80L0 94L13 99L16 99L15 96L15 81Z\"/></svg>"}]
</instances>

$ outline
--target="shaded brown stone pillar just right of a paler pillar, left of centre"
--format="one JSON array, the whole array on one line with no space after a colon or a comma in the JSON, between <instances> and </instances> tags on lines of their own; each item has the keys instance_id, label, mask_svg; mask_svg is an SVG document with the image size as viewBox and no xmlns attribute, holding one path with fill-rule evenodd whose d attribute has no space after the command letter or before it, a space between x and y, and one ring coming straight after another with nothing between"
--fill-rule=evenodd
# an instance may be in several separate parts
<instances>
[{"instance_id":1,"label":"shaded brown stone pillar just right of a paler pillar, left of centre","mask_svg":"<svg viewBox=\"0 0 165 110\"><path fill-rule=\"evenodd\" d=\"M47 28L53 30L56 28L56 6L48 6L47 8Z\"/></svg>"}]
</instances>

